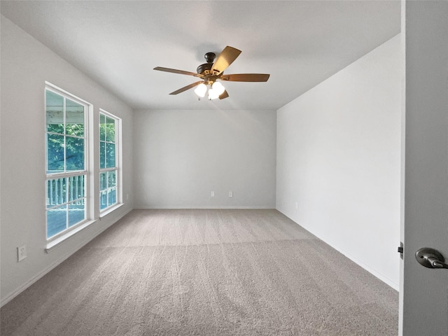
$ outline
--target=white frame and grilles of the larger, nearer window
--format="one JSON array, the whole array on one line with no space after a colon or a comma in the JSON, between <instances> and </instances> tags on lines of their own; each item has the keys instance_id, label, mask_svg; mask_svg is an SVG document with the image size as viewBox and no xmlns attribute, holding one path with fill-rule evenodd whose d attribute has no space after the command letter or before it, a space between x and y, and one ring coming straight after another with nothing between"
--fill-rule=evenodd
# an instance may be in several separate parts
<instances>
[{"instance_id":1,"label":"white frame and grilles of the larger, nearer window","mask_svg":"<svg viewBox=\"0 0 448 336\"><path fill-rule=\"evenodd\" d=\"M48 132L48 124L47 124L47 92L52 92L53 94L57 94L64 98L64 134L59 134L56 132ZM55 173L48 173L48 134L57 134L57 135L63 135L64 136L64 147L66 144L66 137L73 137L71 135L66 134L66 99L69 99L72 102L75 102L76 104L80 104L83 106L83 137L76 137L78 139L84 140L84 148L83 148L83 163L84 167L83 169L79 170L67 170L66 169L66 148L64 148L64 172L55 172ZM90 114L92 111L92 104L86 102L84 99L80 99L79 97L76 97L74 94L71 94L65 90L62 90L61 88L52 85L48 82L45 82L45 89L44 89L44 134L45 134L45 239L48 244L52 243L53 241L59 241L61 239L64 239L65 236L70 236L73 234L74 231L80 230L81 226L87 225L91 221L91 213L92 213L92 197L90 193L90 177L91 177L91 169L90 169ZM69 199L69 180L73 178L74 176L83 176L84 178L84 190L83 190L83 197L77 197L73 200ZM65 200L61 204L56 204L53 206L48 206L48 181L53 180L62 180L66 179L66 191L65 193ZM69 222L69 212L70 212L70 204L76 202L77 200L83 200L84 201L84 219L82 221L79 221L77 223L74 223L73 225L70 225ZM66 228L60 232L57 232L55 235L52 235L48 237L48 210L49 209L56 209L57 207L63 207L66 206Z\"/></svg>"}]
</instances>

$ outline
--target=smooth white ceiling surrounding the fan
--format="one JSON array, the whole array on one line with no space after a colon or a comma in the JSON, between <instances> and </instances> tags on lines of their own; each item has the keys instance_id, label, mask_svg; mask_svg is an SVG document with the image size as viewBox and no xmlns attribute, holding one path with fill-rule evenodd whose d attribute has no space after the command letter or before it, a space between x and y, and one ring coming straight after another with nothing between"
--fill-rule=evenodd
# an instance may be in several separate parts
<instances>
[{"instance_id":1,"label":"smooth white ceiling surrounding the fan","mask_svg":"<svg viewBox=\"0 0 448 336\"><path fill-rule=\"evenodd\" d=\"M400 32L400 1L6 1L1 13L133 109L279 109ZM242 50L230 97L169 92L204 53Z\"/></svg>"}]
</instances>

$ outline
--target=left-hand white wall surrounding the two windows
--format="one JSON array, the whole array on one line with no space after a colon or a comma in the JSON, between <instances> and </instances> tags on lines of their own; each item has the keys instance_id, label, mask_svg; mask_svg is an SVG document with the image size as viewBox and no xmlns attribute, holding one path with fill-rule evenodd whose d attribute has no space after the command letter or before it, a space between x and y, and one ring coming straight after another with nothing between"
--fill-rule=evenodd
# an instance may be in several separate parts
<instances>
[{"instance_id":1,"label":"left-hand white wall surrounding the two windows","mask_svg":"<svg viewBox=\"0 0 448 336\"><path fill-rule=\"evenodd\" d=\"M123 119L125 205L45 253L45 80ZM97 132L96 132L97 133ZM96 134L97 141L98 134ZM95 142L97 143L97 142ZM98 154L97 146L94 146ZM1 16L1 303L132 209L132 111ZM96 190L98 190L98 186ZM96 211L97 213L98 211ZM16 248L28 257L17 261Z\"/></svg>"}]
</instances>

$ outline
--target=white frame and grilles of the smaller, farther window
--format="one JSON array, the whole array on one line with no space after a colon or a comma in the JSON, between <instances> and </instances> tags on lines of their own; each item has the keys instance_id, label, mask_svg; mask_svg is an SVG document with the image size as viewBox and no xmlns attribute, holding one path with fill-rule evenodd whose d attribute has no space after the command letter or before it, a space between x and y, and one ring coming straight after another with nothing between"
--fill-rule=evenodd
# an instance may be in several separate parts
<instances>
[{"instance_id":1,"label":"white frame and grilles of the smaller, farther window","mask_svg":"<svg viewBox=\"0 0 448 336\"><path fill-rule=\"evenodd\" d=\"M101 125L102 125L102 116L104 116L105 118L111 118L115 121L115 142L108 142L108 141L102 141L101 139ZM123 205L123 174L122 174L122 165L123 165L123 160L122 160L122 137L121 137L121 132L122 132L122 120L121 118L113 115L112 113L109 113L108 111L105 111L104 109L99 109L99 115L98 115L98 120L99 120L99 127L98 127L98 131L99 131L99 141L97 146L99 146L99 155L98 155L98 167L99 167L99 172L98 172L98 185L99 185L99 192L98 192L98 207L99 207L99 216L105 216L106 214L109 214L111 211L115 210L116 208L120 207L121 205ZM106 119L107 120L107 119ZM105 144L111 143L111 144L115 144L115 166L114 167L101 167L101 144L102 142L104 142ZM105 160L106 160L106 155L105 155ZM107 160L106 160L107 162ZM102 174L104 173L109 173L109 172L116 172L116 182L115 182L115 186L109 187L109 185L102 189ZM107 177L106 177L106 181L107 181ZM102 209L102 192L104 192L105 190L110 190L112 188L115 188L116 190L116 202L106 206L105 208ZM106 197L109 197L109 193L106 193ZM109 203L109 202L106 202Z\"/></svg>"}]
</instances>

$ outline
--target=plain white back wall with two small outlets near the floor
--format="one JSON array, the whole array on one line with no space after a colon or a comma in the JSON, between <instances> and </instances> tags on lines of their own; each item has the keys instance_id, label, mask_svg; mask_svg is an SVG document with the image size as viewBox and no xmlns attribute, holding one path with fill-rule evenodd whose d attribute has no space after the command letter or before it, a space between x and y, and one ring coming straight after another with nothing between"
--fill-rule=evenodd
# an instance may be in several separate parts
<instances>
[{"instance_id":1,"label":"plain white back wall with two small outlets near the floor","mask_svg":"<svg viewBox=\"0 0 448 336\"><path fill-rule=\"evenodd\" d=\"M275 111L134 115L137 208L273 209L275 160Z\"/></svg>"}]
</instances>

